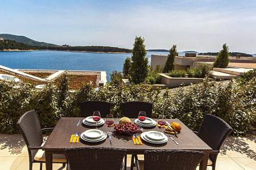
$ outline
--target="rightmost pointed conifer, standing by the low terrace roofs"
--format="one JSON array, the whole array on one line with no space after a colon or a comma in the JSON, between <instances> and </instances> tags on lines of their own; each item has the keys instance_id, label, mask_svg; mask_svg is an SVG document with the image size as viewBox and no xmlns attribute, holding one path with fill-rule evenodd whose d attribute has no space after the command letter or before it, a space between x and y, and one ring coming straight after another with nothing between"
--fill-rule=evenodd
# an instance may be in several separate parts
<instances>
[{"instance_id":1,"label":"rightmost pointed conifer, standing by the low terrace roofs","mask_svg":"<svg viewBox=\"0 0 256 170\"><path fill-rule=\"evenodd\" d=\"M216 60L213 63L213 67L226 68L229 65L229 47L226 43L223 44L222 50L218 53Z\"/></svg>"}]
</instances>

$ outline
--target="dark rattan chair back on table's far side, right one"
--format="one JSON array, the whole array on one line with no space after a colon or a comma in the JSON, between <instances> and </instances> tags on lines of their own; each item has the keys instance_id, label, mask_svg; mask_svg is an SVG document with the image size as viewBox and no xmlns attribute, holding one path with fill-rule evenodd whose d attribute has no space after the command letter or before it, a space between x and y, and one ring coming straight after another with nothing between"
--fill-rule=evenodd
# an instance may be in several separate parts
<instances>
[{"instance_id":1,"label":"dark rattan chair back on table's far side, right one","mask_svg":"<svg viewBox=\"0 0 256 170\"><path fill-rule=\"evenodd\" d=\"M139 111L146 112L147 117L152 116L152 103L146 101L127 101L121 104L123 116L137 118Z\"/></svg>"}]
</instances>

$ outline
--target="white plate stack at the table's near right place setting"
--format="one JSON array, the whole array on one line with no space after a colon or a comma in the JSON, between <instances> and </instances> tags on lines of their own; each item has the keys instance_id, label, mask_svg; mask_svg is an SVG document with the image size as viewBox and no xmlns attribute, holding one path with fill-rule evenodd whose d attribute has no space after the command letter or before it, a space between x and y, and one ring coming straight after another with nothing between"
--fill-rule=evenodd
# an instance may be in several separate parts
<instances>
[{"instance_id":1,"label":"white plate stack at the table's near right place setting","mask_svg":"<svg viewBox=\"0 0 256 170\"><path fill-rule=\"evenodd\" d=\"M167 136L159 131L146 131L141 134L141 138L146 142L154 144L163 144L168 141Z\"/></svg>"}]
</instances>

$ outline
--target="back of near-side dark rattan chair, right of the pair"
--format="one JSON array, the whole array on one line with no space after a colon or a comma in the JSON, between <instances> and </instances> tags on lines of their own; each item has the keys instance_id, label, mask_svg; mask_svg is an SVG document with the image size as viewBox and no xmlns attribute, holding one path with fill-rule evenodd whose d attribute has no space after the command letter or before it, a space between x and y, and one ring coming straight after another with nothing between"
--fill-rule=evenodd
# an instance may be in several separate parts
<instances>
[{"instance_id":1,"label":"back of near-side dark rattan chair, right of the pair","mask_svg":"<svg viewBox=\"0 0 256 170\"><path fill-rule=\"evenodd\" d=\"M144 160L136 160L138 170L192 170L203 160L204 152L187 150L147 150Z\"/></svg>"}]
</instances>

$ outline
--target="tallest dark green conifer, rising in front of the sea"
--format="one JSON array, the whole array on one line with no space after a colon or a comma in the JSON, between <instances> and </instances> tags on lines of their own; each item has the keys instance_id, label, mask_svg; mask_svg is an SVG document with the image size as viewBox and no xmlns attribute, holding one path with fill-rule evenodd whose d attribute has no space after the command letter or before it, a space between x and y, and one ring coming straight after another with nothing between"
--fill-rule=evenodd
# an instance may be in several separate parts
<instances>
[{"instance_id":1,"label":"tallest dark green conifer, rising in front of the sea","mask_svg":"<svg viewBox=\"0 0 256 170\"><path fill-rule=\"evenodd\" d=\"M135 37L133 44L133 56L131 56L130 81L138 84L144 82L148 74L148 59L146 57L144 38Z\"/></svg>"}]
</instances>

